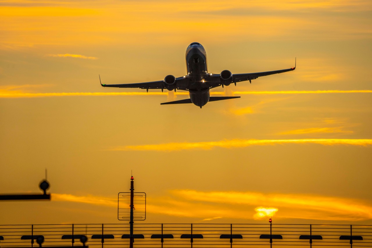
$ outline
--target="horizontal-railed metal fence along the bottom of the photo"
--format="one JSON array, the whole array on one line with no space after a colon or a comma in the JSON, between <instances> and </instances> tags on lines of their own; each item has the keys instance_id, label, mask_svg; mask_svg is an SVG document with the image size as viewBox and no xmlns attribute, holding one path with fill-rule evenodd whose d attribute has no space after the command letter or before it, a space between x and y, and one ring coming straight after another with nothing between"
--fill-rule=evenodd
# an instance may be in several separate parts
<instances>
[{"instance_id":1,"label":"horizontal-railed metal fence along the bottom of the photo","mask_svg":"<svg viewBox=\"0 0 372 248\"><path fill-rule=\"evenodd\" d=\"M128 224L0 225L0 247L129 247ZM137 224L135 248L372 247L372 225Z\"/></svg>"}]
</instances>

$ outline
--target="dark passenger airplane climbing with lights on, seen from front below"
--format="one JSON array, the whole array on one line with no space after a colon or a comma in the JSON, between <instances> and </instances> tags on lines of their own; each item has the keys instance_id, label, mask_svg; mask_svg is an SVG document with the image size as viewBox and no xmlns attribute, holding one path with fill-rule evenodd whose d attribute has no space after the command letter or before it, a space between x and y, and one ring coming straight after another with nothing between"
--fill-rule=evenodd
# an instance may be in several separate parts
<instances>
[{"instance_id":1,"label":"dark passenger airplane climbing with lights on, seen from front below","mask_svg":"<svg viewBox=\"0 0 372 248\"><path fill-rule=\"evenodd\" d=\"M219 74L208 73L207 70L207 57L204 47L198 42L192 42L186 49L186 68L187 75L182 77L174 77L168 75L164 80L145 82L145 83L126 83L117 85L102 84L101 77L99 81L103 87L118 87L118 88L140 88L146 89L164 89L169 91L176 89L187 90L189 92L189 99L178 101L163 102L161 104L188 104L193 103L202 108L207 102L220 101L226 99L240 98L240 96L210 96L209 90L218 86L225 86L234 83L248 81L251 83L253 79L258 77L268 76L286 71L293 71L295 67L276 71L263 71L256 73L242 73L232 74L229 70L223 70Z\"/></svg>"}]
</instances>

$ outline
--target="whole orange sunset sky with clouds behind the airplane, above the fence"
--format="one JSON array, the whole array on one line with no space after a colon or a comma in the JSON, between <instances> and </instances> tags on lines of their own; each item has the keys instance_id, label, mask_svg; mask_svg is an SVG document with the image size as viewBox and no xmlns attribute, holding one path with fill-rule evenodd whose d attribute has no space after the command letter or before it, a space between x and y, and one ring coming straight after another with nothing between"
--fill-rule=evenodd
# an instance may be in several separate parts
<instances>
[{"instance_id":1,"label":"whole orange sunset sky with clouds behind the airplane, above the fence","mask_svg":"<svg viewBox=\"0 0 372 248\"><path fill-rule=\"evenodd\" d=\"M119 192L148 223L372 220L370 0L0 0L0 224L121 223ZM186 74L296 70L212 89L102 88Z\"/></svg>"}]
</instances>

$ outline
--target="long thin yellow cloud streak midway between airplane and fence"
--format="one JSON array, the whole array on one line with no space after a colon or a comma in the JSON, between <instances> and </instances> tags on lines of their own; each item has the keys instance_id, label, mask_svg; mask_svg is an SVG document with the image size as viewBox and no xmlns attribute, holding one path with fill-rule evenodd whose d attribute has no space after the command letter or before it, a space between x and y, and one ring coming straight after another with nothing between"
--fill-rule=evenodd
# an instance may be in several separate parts
<instances>
[{"instance_id":1,"label":"long thin yellow cloud streak midway between airplane and fence","mask_svg":"<svg viewBox=\"0 0 372 248\"><path fill-rule=\"evenodd\" d=\"M146 144L139 146L118 146L112 147L112 151L161 151L171 152L180 150L210 150L216 147L220 148L241 148L247 146L267 146L276 144L322 144L322 145L352 145L369 146L372 145L372 139L280 139L280 140L254 140L254 139L232 139L211 142L174 142L163 144Z\"/></svg>"}]
</instances>

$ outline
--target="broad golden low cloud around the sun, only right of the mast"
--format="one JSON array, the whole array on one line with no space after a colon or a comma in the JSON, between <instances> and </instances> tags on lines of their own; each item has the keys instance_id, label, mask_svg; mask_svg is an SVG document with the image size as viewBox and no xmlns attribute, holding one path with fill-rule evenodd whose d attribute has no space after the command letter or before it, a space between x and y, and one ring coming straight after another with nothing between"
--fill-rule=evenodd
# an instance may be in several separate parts
<instances>
[{"instance_id":1,"label":"broad golden low cloud around the sun, only right of the mast","mask_svg":"<svg viewBox=\"0 0 372 248\"><path fill-rule=\"evenodd\" d=\"M219 216L234 217L240 219L251 219L260 217L259 210L263 216L277 212L278 218L295 219L318 219L318 220L368 220L372 219L372 206L356 199L325 197L305 194L263 194L257 192L235 192L235 191L212 191L203 192L195 190L171 191L174 198L183 204L177 206L165 205L171 209L187 213L189 204L196 203L204 205L212 211L219 211ZM214 203L214 204L211 204ZM249 206L272 206L269 208ZM209 207L213 206L213 207ZM189 212L193 210L190 209ZM234 211L232 211L234 210ZM194 216L199 217L198 214ZM210 216L210 215L209 215Z\"/></svg>"}]
</instances>

